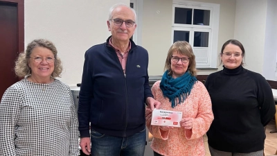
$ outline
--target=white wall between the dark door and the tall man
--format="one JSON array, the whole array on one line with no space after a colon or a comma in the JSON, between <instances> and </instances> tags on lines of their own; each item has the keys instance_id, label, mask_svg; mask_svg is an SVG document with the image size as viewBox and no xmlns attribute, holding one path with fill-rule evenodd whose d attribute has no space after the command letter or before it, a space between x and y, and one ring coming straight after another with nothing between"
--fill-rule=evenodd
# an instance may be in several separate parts
<instances>
[{"instance_id":1,"label":"white wall between the dark door and the tall man","mask_svg":"<svg viewBox=\"0 0 277 156\"><path fill-rule=\"evenodd\" d=\"M109 8L129 0L25 0L25 48L37 38L51 40L62 59L62 82L76 85L82 80L84 52L105 42Z\"/></svg>"}]
</instances>

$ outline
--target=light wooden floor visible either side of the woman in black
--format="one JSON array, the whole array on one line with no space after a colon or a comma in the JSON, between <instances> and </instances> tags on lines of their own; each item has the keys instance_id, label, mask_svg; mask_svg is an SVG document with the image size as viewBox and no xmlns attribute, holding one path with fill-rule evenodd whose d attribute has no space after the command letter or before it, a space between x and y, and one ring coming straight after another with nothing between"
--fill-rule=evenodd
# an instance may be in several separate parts
<instances>
[{"instance_id":1,"label":"light wooden floor visible either side of the woman in black","mask_svg":"<svg viewBox=\"0 0 277 156\"><path fill-rule=\"evenodd\" d=\"M270 133L271 130L276 130L275 121L271 121L267 125L267 129L265 130L265 133L267 135L267 138L265 139L266 156L276 155L276 150L277 150L277 133ZM205 148L206 148L206 156L211 156L210 151L208 150L206 135L204 136L204 141L205 141Z\"/></svg>"}]
</instances>

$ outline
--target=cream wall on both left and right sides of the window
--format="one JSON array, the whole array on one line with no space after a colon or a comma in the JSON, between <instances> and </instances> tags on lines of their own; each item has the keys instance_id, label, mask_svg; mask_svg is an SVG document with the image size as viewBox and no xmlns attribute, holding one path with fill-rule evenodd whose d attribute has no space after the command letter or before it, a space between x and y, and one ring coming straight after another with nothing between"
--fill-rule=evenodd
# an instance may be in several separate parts
<instances>
[{"instance_id":1,"label":"cream wall on both left and right sides of the window","mask_svg":"<svg viewBox=\"0 0 277 156\"><path fill-rule=\"evenodd\" d=\"M220 27L218 53L222 44L233 38L235 23L235 0L193 0L220 4ZM158 13L159 12L159 13ZM149 75L162 75L168 49L171 46L172 0L143 1L142 46L148 50L150 62ZM220 60L217 59L219 65ZM218 66L218 70L222 66ZM206 75L217 69L199 69L198 75Z\"/></svg>"}]
</instances>

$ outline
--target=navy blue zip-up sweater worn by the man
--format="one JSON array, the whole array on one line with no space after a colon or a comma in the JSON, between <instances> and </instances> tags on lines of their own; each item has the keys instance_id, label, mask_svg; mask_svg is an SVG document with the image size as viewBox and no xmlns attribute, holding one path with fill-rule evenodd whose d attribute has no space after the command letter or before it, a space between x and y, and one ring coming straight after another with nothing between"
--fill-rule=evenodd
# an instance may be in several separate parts
<instances>
[{"instance_id":1,"label":"navy blue zip-up sweater worn by the man","mask_svg":"<svg viewBox=\"0 0 277 156\"><path fill-rule=\"evenodd\" d=\"M78 106L80 137L89 137L89 122L91 129L116 137L128 137L145 128L145 100L153 97L148 83L148 51L130 40L124 74L109 38L84 55Z\"/></svg>"}]
</instances>

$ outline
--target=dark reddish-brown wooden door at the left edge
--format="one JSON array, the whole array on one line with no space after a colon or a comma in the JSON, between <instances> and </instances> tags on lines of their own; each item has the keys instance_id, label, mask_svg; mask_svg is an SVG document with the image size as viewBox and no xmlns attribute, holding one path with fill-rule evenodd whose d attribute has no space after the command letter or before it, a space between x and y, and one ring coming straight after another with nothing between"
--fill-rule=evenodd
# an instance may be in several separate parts
<instances>
[{"instance_id":1,"label":"dark reddish-brown wooden door at the left edge","mask_svg":"<svg viewBox=\"0 0 277 156\"><path fill-rule=\"evenodd\" d=\"M15 60L24 51L24 1L0 0L0 99L15 76Z\"/></svg>"}]
</instances>

